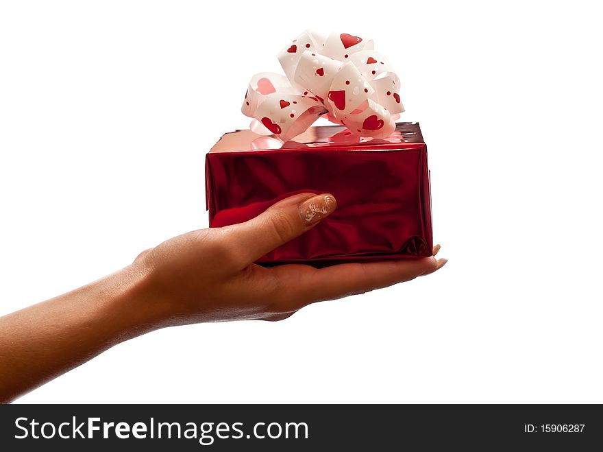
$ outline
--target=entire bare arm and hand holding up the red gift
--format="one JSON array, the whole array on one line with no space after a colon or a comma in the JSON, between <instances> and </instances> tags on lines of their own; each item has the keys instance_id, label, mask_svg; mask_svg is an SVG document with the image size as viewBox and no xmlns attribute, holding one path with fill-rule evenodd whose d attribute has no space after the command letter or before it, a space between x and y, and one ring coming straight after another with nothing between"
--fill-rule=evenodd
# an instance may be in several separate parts
<instances>
[{"instance_id":1,"label":"entire bare arm and hand holding up the red gift","mask_svg":"<svg viewBox=\"0 0 603 452\"><path fill-rule=\"evenodd\" d=\"M248 222L164 241L114 274L0 318L0 401L13 401L149 331L196 322L283 320L312 302L410 281L446 263L432 256L321 269L254 264L320 227L334 209L329 193L295 195Z\"/></svg>"}]
</instances>

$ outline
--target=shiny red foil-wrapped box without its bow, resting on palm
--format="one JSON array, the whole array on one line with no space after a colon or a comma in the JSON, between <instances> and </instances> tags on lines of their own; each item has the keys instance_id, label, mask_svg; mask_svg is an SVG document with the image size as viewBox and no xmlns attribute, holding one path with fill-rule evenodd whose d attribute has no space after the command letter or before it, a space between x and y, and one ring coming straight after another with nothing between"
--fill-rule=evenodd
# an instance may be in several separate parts
<instances>
[{"instance_id":1,"label":"shiny red foil-wrapped box without its bow, resting on palm","mask_svg":"<svg viewBox=\"0 0 603 452\"><path fill-rule=\"evenodd\" d=\"M418 123L387 139L311 127L280 143L251 130L224 134L206 158L210 227L245 222L303 192L332 193L337 209L258 263L329 265L432 254L430 174Z\"/></svg>"}]
</instances>

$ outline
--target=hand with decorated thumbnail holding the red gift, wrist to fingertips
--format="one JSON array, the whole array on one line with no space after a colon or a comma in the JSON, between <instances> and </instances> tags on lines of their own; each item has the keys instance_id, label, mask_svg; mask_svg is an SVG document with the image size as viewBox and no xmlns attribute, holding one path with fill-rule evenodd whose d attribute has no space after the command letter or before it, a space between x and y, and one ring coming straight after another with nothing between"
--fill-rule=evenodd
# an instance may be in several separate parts
<instances>
[{"instance_id":1,"label":"hand with decorated thumbnail holding the red gift, wrist to fingertips","mask_svg":"<svg viewBox=\"0 0 603 452\"><path fill-rule=\"evenodd\" d=\"M136 258L145 309L159 326L224 320L282 320L312 302L361 294L439 270L434 257L376 263L262 267L254 261L294 239L336 209L333 195L302 193L258 217L196 230ZM320 227L320 226L318 226ZM439 246L434 248L436 254Z\"/></svg>"}]
</instances>

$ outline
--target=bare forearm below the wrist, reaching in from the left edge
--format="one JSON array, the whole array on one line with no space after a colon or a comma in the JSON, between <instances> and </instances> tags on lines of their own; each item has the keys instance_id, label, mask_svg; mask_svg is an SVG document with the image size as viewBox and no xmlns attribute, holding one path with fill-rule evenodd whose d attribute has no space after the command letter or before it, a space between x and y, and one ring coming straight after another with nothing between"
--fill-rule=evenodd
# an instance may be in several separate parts
<instances>
[{"instance_id":1,"label":"bare forearm below the wrist, reaching in from the left edge","mask_svg":"<svg viewBox=\"0 0 603 452\"><path fill-rule=\"evenodd\" d=\"M0 401L9 402L158 326L133 267L0 318ZM153 308L153 309L151 309Z\"/></svg>"}]
</instances>

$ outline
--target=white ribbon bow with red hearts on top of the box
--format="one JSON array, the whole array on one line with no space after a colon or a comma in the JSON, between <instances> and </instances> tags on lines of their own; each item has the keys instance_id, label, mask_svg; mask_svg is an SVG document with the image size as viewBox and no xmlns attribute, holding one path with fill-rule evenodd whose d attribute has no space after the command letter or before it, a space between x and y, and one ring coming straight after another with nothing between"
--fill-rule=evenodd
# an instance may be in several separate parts
<instances>
[{"instance_id":1,"label":"white ribbon bow with red hearts on top of the box","mask_svg":"<svg viewBox=\"0 0 603 452\"><path fill-rule=\"evenodd\" d=\"M289 141L321 115L359 136L385 138L404 111L400 81L372 40L304 32L280 51L286 77L254 75L241 111L251 130Z\"/></svg>"}]
</instances>

